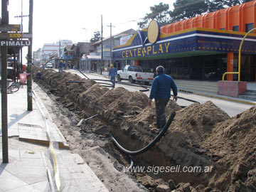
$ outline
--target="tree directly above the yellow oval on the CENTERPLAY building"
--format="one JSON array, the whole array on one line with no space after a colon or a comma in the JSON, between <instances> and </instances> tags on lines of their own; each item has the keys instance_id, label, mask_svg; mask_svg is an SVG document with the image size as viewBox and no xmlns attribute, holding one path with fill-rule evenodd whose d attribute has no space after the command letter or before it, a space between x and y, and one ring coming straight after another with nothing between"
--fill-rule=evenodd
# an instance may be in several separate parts
<instances>
[{"instance_id":1,"label":"tree directly above the yellow oval on the CENTERPLAY building","mask_svg":"<svg viewBox=\"0 0 256 192\"><path fill-rule=\"evenodd\" d=\"M159 5L151 6L150 11L150 14L146 14L146 16L142 18L142 21L137 23L139 28L146 27L149 21L153 19L158 21L160 26L164 26L169 23L169 4L160 3Z\"/></svg>"}]
</instances>

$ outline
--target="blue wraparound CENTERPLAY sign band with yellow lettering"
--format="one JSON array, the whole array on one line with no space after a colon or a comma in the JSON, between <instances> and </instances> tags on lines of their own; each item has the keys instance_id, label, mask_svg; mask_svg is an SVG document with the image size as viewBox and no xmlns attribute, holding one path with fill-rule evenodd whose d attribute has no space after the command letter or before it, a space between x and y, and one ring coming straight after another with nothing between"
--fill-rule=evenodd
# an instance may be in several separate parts
<instances>
[{"instance_id":1,"label":"blue wraparound CENTERPLAY sign band with yellow lettering","mask_svg":"<svg viewBox=\"0 0 256 192\"><path fill-rule=\"evenodd\" d=\"M142 31L142 34L146 31ZM124 46L117 46L113 50L114 59L148 58L157 55L184 53L197 51L200 54L215 54L217 52L238 53L242 40L242 33L210 30L206 28L191 28L189 30L164 35L152 44L145 41L142 44L138 35L132 37L132 41ZM211 53L210 53L211 52ZM256 54L256 36L253 34L247 38L242 47L242 53Z\"/></svg>"}]
</instances>

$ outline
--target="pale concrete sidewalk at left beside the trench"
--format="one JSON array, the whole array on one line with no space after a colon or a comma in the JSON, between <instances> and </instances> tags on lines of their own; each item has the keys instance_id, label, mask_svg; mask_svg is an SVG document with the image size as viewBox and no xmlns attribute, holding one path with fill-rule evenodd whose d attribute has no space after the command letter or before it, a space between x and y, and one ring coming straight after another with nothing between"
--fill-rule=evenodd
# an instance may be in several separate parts
<instances>
[{"instance_id":1,"label":"pale concrete sidewalk at left beside the trench","mask_svg":"<svg viewBox=\"0 0 256 192\"><path fill-rule=\"evenodd\" d=\"M2 163L0 138L0 192L50 191L59 184L53 159L57 160L60 191L108 191L85 161L70 153L52 120L48 122L48 132L46 122L50 118L46 120L42 114L40 98L33 100L33 111L27 111L26 94L26 85L21 85L18 92L8 95L9 163ZM54 138L53 146L57 146L54 152L48 145L50 138Z\"/></svg>"}]
</instances>

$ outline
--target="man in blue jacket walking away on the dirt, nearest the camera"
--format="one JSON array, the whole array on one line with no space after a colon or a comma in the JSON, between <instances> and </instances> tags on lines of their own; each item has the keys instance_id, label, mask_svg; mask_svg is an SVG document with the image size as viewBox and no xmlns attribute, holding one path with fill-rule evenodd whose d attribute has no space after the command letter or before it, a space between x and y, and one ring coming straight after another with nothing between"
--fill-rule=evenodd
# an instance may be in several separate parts
<instances>
[{"instance_id":1,"label":"man in blue jacket walking away on the dirt, nearest the camera","mask_svg":"<svg viewBox=\"0 0 256 192\"><path fill-rule=\"evenodd\" d=\"M154 98L156 104L156 126L163 129L166 124L165 107L170 100L171 90L174 92L174 100L177 101L177 87L171 76L164 74L164 67L156 68L156 78L151 85L149 95L149 107L152 105Z\"/></svg>"}]
</instances>

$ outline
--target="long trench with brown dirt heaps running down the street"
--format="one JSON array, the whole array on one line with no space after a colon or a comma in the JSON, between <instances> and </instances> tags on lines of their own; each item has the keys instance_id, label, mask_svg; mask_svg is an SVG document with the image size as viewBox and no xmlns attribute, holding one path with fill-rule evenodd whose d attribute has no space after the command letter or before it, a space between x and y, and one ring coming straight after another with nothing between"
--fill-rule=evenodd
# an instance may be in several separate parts
<instances>
[{"instance_id":1,"label":"long trench with brown dirt heaps running down the street","mask_svg":"<svg viewBox=\"0 0 256 192\"><path fill-rule=\"evenodd\" d=\"M34 77L38 70L41 69L33 69ZM147 106L148 97L144 93L129 92L122 87L109 90L72 73L58 78L54 70L44 70L42 78L51 92L67 97L63 101L65 107L71 111L76 110L75 106L82 109L81 118L99 114L97 119L104 123L90 119L81 127L81 134L94 132L107 137L111 132L122 146L132 151L142 149L156 137L154 105ZM83 82L65 83L77 80ZM139 166L180 166L180 169L137 173L139 182L150 191L256 191L255 107L230 118L210 101L183 109L170 101L166 117L172 112L176 116L164 137L149 151L134 156L134 160ZM112 144L105 149L117 150ZM182 170L193 166L201 167L201 171ZM210 170L203 171L205 168ZM159 178L169 182L169 186L157 189Z\"/></svg>"}]
</instances>

